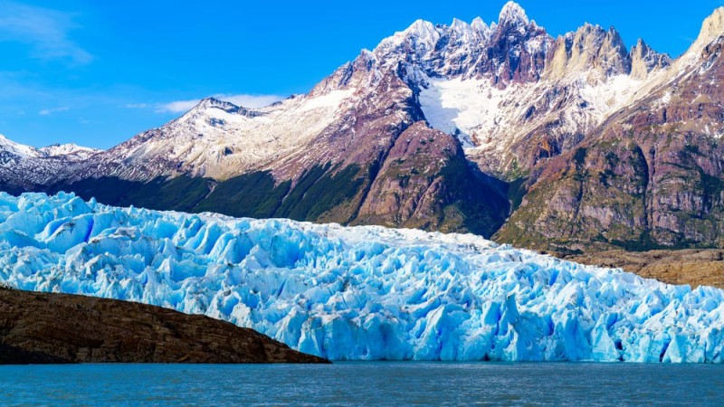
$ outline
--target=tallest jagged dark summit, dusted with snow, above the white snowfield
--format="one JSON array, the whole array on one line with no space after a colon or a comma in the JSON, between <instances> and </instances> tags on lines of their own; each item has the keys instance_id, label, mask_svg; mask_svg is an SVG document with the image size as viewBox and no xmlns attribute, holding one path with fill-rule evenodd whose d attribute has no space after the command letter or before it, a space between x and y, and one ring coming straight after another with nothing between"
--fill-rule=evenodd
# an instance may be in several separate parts
<instances>
[{"instance_id":1,"label":"tallest jagged dark summit, dusted with snow, above the white snowfield","mask_svg":"<svg viewBox=\"0 0 724 407\"><path fill-rule=\"evenodd\" d=\"M405 31L383 40L373 52L381 67L405 65L405 71L431 77L489 78L505 87L513 81L536 81L545 67L554 40L529 21L523 9L510 2L498 24L480 17L470 24L414 22ZM409 79L409 78L408 78ZM421 83L413 80L414 87Z\"/></svg>"}]
</instances>

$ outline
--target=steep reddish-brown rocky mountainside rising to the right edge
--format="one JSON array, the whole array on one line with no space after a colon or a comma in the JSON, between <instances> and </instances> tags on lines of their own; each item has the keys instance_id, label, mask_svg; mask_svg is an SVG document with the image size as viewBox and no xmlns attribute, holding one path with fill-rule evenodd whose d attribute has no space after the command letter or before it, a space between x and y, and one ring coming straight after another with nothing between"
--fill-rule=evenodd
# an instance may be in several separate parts
<instances>
[{"instance_id":1,"label":"steep reddish-brown rocky mountainside rising to the right edge","mask_svg":"<svg viewBox=\"0 0 724 407\"><path fill-rule=\"evenodd\" d=\"M645 98L538 166L501 240L558 251L724 242L719 14Z\"/></svg>"}]
</instances>

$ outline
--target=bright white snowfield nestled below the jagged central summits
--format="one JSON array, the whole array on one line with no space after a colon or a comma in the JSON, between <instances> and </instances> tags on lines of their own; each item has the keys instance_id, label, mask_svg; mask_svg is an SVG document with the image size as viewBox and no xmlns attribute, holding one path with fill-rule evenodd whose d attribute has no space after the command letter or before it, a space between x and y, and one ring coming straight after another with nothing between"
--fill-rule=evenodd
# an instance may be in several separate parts
<instances>
[{"instance_id":1,"label":"bright white snowfield nestled below the jagged central summits","mask_svg":"<svg viewBox=\"0 0 724 407\"><path fill-rule=\"evenodd\" d=\"M428 78L420 91L419 100L425 118L433 128L456 135L465 148L481 151L503 150L547 119L546 113L567 118L571 132L594 128L617 109L634 99L643 84L628 75L591 80L590 72L578 72L557 84L543 80L536 85L512 84L505 89L491 80L462 80L461 78ZM531 106L540 104L546 90L566 89L576 103L567 109L545 106L548 112L538 111L538 120L526 120Z\"/></svg>"}]
</instances>

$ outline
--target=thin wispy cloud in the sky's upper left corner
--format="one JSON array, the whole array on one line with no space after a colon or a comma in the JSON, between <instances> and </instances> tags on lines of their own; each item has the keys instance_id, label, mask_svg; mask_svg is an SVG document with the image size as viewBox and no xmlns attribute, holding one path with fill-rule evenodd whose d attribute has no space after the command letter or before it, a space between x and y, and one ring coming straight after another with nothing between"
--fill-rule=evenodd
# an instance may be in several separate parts
<instances>
[{"instance_id":1,"label":"thin wispy cloud in the sky's upper left corner","mask_svg":"<svg viewBox=\"0 0 724 407\"><path fill-rule=\"evenodd\" d=\"M76 28L72 14L0 0L0 41L30 45L33 58L75 64L92 61L93 56L71 40Z\"/></svg>"}]
</instances>

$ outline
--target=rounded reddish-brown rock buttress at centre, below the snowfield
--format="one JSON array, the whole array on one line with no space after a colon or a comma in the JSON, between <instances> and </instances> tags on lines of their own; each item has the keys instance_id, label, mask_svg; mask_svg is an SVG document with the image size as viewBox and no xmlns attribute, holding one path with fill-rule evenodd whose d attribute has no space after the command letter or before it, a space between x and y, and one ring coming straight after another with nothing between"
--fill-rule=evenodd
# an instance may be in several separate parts
<instances>
[{"instance_id":1,"label":"rounded reddish-brown rock buttress at centre, below the snowfield","mask_svg":"<svg viewBox=\"0 0 724 407\"><path fill-rule=\"evenodd\" d=\"M508 206L504 185L470 166L454 137L418 122L397 137L355 223L491 234Z\"/></svg>"}]
</instances>

